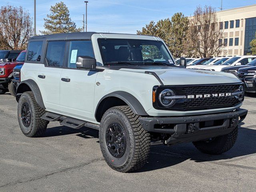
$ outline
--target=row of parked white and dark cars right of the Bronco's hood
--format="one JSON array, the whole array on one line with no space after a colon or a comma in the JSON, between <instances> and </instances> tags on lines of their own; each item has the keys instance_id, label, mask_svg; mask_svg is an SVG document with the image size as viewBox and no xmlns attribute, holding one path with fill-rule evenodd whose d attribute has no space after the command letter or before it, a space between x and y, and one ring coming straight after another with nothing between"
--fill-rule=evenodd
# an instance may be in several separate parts
<instances>
[{"instance_id":1,"label":"row of parked white and dark cars right of the Bronco's hood","mask_svg":"<svg viewBox=\"0 0 256 192\"><path fill-rule=\"evenodd\" d=\"M246 92L256 93L256 55L200 58L186 68L233 73L244 82Z\"/></svg>"}]
</instances>

